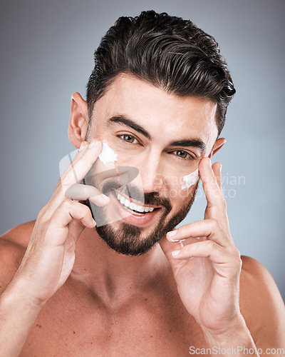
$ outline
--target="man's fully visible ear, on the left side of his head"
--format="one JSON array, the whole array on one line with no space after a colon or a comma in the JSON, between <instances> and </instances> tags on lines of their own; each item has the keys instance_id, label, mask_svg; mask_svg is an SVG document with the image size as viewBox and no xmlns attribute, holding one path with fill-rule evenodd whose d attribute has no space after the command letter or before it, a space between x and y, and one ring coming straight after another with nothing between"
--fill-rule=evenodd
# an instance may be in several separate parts
<instances>
[{"instance_id":1,"label":"man's fully visible ear, on the left side of his head","mask_svg":"<svg viewBox=\"0 0 285 357\"><path fill-rule=\"evenodd\" d=\"M81 146L88 129L87 102L79 93L71 96L71 119L68 126L68 138L76 148Z\"/></svg>"}]
</instances>

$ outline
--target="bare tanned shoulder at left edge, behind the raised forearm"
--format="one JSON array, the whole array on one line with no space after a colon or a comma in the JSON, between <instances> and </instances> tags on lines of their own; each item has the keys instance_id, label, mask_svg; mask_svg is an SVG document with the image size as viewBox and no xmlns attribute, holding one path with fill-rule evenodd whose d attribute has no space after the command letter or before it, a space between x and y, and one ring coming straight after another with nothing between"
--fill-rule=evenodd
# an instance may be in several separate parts
<instances>
[{"instance_id":1,"label":"bare tanned shoulder at left edge, behind the raised forearm","mask_svg":"<svg viewBox=\"0 0 285 357\"><path fill-rule=\"evenodd\" d=\"M0 236L0 293L14 277L26 252L35 221L20 224Z\"/></svg>"}]
</instances>

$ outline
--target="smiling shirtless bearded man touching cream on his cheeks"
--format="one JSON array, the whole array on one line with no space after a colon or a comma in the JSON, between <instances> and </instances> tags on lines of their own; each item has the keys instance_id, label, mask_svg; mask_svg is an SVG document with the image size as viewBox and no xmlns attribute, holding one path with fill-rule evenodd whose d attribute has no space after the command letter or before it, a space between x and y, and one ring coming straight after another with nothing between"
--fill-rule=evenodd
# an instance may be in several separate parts
<instances>
[{"instance_id":1,"label":"smiling shirtless bearded man touching cream on his cheeks","mask_svg":"<svg viewBox=\"0 0 285 357\"><path fill-rule=\"evenodd\" d=\"M266 269L241 260L210 162L234 92L190 21L146 11L110 28L87 101L72 97L78 154L36 221L1 237L1 356L284 353L284 303ZM107 176L91 185L88 171ZM204 220L175 230L198 172Z\"/></svg>"}]
</instances>

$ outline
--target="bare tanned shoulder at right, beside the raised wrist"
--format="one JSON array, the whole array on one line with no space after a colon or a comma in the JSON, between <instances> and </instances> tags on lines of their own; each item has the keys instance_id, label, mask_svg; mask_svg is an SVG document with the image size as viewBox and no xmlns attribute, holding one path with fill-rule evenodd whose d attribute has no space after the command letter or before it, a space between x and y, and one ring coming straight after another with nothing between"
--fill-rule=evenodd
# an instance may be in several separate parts
<instances>
[{"instance_id":1,"label":"bare tanned shoulder at right, beside the raised wrist","mask_svg":"<svg viewBox=\"0 0 285 357\"><path fill-rule=\"evenodd\" d=\"M242 256L240 308L257 346L285 346L285 306L281 294L269 271L248 256Z\"/></svg>"}]
</instances>

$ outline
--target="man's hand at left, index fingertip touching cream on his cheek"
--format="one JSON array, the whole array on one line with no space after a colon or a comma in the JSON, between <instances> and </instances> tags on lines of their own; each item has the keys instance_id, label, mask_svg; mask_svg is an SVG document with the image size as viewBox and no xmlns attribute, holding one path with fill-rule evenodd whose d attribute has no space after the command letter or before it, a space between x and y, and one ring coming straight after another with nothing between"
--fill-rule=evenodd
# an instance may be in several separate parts
<instances>
[{"instance_id":1,"label":"man's hand at left, index fingertip touching cream on his cheek","mask_svg":"<svg viewBox=\"0 0 285 357\"><path fill-rule=\"evenodd\" d=\"M26 254L11 281L31 303L43 305L65 283L73 268L79 236L84 228L95 227L90 209L78 201L90 198L98 206L110 201L94 187L74 185L86 176L101 150L100 141L81 144L51 200L38 214ZM76 186L76 197L71 198L78 201L66 198L66 190L71 186Z\"/></svg>"}]
</instances>

